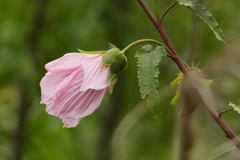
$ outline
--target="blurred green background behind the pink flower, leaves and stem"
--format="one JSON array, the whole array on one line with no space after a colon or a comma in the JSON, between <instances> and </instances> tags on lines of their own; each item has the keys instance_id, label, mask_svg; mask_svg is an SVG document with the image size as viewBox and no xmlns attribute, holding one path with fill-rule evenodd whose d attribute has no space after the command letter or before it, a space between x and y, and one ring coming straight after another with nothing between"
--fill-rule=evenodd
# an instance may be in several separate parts
<instances>
[{"instance_id":1,"label":"blurred green background behind the pink flower, leaves and stem","mask_svg":"<svg viewBox=\"0 0 240 160\"><path fill-rule=\"evenodd\" d=\"M146 0L155 12L154 0ZM161 15L171 0L157 4ZM157 125L140 98L135 47L127 52L128 70L121 73L112 95L76 128L40 105L39 82L44 65L65 53L119 48L142 38L161 40L136 0L8 0L0 1L0 160L170 160L178 159L181 105L171 106L176 88L169 83L179 72L169 58L160 64L162 123ZM164 27L183 61L199 63L214 81L217 110L240 98L239 0L204 1L225 32L228 44L192 11L180 5L164 19ZM222 130L200 106L193 114L193 160L239 160ZM224 114L240 134L240 116Z\"/></svg>"}]
</instances>

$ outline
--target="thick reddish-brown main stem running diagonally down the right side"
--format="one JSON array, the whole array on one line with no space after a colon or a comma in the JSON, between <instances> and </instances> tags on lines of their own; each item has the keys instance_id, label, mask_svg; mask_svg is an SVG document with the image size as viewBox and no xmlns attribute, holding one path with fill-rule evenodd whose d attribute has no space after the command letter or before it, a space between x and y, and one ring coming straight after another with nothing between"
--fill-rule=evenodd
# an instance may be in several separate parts
<instances>
[{"instance_id":1,"label":"thick reddish-brown main stem running diagonally down the right side","mask_svg":"<svg viewBox=\"0 0 240 160\"><path fill-rule=\"evenodd\" d=\"M158 21L152 12L149 10L147 5L143 2L143 0L137 0L138 3L141 5L145 13L148 15L149 19L152 21L154 26L157 28L158 32L160 33L163 41L165 42L166 46L171 50L172 54L170 57L172 60L178 65L179 69L182 71L184 75L186 75L187 71L185 66L183 65L181 59L179 58L176 50L174 49L173 44L171 43L170 39L168 38L165 30L162 27L161 21ZM217 113L217 111L210 106L204 99L202 98L202 103L206 107L207 111L210 113L210 115L214 118L214 120L217 122L217 124L220 126L220 128L226 133L226 136L231 139L234 144L237 146L237 148L240 150L240 140L237 137L237 135L232 131L232 129L227 125L227 123L223 120L223 118Z\"/></svg>"}]
</instances>

